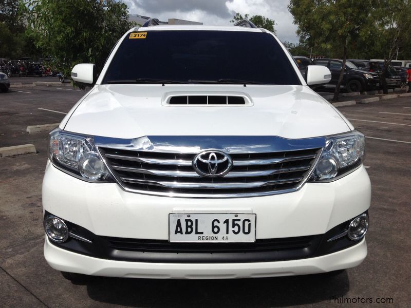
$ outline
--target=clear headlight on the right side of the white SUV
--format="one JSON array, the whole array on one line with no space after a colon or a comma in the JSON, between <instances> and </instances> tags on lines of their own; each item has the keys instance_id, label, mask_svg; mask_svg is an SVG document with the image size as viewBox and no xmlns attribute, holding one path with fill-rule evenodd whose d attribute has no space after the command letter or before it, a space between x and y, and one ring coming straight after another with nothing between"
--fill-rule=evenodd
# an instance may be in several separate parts
<instances>
[{"instance_id":1,"label":"clear headlight on the right side of the white SUV","mask_svg":"<svg viewBox=\"0 0 411 308\"><path fill-rule=\"evenodd\" d=\"M359 131L328 137L310 180L326 181L347 174L361 164L364 150L364 134Z\"/></svg>"}]
</instances>

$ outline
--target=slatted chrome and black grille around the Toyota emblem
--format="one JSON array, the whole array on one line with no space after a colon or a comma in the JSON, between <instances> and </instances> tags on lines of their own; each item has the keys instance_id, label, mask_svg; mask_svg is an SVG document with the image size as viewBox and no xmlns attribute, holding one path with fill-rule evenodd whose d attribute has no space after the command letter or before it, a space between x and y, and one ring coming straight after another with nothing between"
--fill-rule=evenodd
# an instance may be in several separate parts
<instances>
[{"instance_id":1,"label":"slatted chrome and black grille around the Toyota emblem","mask_svg":"<svg viewBox=\"0 0 411 308\"><path fill-rule=\"evenodd\" d=\"M223 177L202 177L192 166L195 153L128 150L100 146L120 185L131 191L179 197L249 197L301 187L322 148L230 153L233 167Z\"/></svg>"}]
</instances>

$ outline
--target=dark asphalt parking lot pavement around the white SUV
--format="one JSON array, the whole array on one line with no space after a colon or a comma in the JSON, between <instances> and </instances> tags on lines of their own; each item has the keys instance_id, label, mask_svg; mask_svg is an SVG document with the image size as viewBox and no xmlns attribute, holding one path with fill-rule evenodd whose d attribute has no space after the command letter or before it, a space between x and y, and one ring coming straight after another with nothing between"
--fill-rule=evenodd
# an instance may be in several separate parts
<instances>
[{"instance_id":1,"label":"dark asphalt parking lot pavement around the white SUV","mask_svg":"<svg viewBox=\"0 0 411 308\"><path fill-rule=\"evenodd\" d=\"M373 300L364 307L409 306L411 98L339 108L368 137L365 165L372 183L371 222L368 256L360 266L337 276L202 281L95 277L73 284L43 257L41 181L47 133L28 134L25 129L58 123L84 92L40 87L29 92L0 93L0 146L33 143L38 149L35 155L0 159L2 306L339 306L329 302L331 296ZM376 304L377 298L394 302Z\"/></svg>"}]
</instances>

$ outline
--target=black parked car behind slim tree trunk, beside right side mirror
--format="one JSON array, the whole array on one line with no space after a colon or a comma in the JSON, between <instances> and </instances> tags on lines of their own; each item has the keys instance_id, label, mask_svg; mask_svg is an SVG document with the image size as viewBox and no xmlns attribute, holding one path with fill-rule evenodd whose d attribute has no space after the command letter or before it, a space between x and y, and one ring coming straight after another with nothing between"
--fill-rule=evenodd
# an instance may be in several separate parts
<instances>
[{"instance_id":1,"label":"black parked car behind slim tree trunk, beside right side mirror","mask_svg":"<svg viewBox=\"0 0 411 308\"><path fill-rule=\"evenodd\" d=\"M323 65L330 69L330 84L337 85L340 78L343 61L338 59L315 59L315 65ZM380 78L377 73L360 70L350 61L345 62L345 73L343 76L342 86L348 92L363 92L379 89Z\"/></svg>"}]
</instances>

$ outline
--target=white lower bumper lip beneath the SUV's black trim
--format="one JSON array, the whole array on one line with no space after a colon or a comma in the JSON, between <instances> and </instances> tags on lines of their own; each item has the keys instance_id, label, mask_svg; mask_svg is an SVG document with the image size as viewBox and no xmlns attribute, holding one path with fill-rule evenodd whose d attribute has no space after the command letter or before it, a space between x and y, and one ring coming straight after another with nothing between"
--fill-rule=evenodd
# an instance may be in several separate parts
<instances>
[{"instance_id":1,"label":"white lower bumper lip beneath the SUV's black trim","mask_svg":"<svg viewBox=\"0 0 411 308\"><path fill-rule=\"evenodd\" d=\"M229 279L293 276L337 271L359 265L367 256L363 239L343 251L309 259L254 263L145 263L92 258L66 251L46 238L44 256L58 271L95 276L156 279Z\"/></svg>"}]
</instances>

